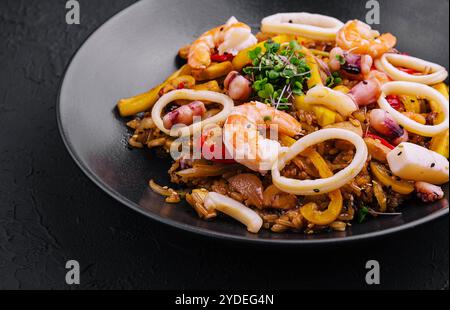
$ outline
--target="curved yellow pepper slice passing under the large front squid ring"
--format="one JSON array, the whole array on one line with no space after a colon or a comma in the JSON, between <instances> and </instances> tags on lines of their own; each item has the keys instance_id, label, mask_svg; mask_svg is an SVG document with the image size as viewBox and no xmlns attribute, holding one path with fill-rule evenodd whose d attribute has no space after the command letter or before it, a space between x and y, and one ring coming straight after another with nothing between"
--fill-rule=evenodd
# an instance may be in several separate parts
<instances>
[{"instance_id":1,"label":"curved yellow pepper slice passing under the large front squid ring","mask_svg":"<svg viewBox=\"0 0 450 310\"><path fill-rule=\"evenodd\" d=\"M303 153L311 159L311 162L319 171L321 178L329 178L333 176L333 172L328 167L327 162L323 159L323 157L314 150L307 150ZM319 211L317 209L317 205L315 203L309 203L301 207L300 212L305 219L309 222L326 226L330 225L338 218L339 214L341 214L342 207L344 205L344 200L342 198L342 193L340 190L335 190L328 194L330 198L330 204L328 205L327 210Z\"/></svg>"}]
</instances>

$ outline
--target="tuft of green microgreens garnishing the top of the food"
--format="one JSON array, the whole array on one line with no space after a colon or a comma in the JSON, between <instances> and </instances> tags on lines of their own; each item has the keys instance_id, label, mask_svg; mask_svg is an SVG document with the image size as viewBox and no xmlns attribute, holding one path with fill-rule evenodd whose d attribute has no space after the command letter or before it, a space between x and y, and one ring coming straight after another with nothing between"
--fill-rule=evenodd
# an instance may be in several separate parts
<instances>
[{"instance_id":1,"label":"tuft of green microgreens garnishing the top of the food","mask_svg":"<svg viewBox=\"0 0 450 310\"><path fill-rule=\"evenodd\" d=\"M248 52L252 65L243 69L250 77L257 99L276 107L289 110L293 95L303 95L311 68L301 53L302 46L295 40L283 44L268 40Z\"/></svg>"}]
</instances>

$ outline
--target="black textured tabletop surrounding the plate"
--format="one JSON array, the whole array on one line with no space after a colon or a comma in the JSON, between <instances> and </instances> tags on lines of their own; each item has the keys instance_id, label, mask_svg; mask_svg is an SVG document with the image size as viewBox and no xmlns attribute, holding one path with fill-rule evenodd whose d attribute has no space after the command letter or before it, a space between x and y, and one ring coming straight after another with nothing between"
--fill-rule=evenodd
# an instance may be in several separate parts
<instances>
[{"instance_id":1,"label":"black textured tabletop surrounding the plate","mask_svg":"<svg viewBox=\"0 0 450 310\"><path fill-rule=\"evenodd\" d=\"M0 0L0 289L448 289L448 217L340 248L256 248L204 239L153 222L96 188L59 137L55 104L65 66L84 39L132 0ZM447 1L448 7L448 1ZM72 287L73 288L73 287Z\"/></svg>"}]
</instances>

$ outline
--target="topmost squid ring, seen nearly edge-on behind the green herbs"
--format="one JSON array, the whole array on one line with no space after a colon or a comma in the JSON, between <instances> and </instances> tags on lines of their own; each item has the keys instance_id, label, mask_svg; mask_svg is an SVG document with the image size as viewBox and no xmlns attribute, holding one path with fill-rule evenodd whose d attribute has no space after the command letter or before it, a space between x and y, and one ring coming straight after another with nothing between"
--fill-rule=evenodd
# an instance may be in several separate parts
<instances>
[{"instance_id":1,"label":"topmost squid ring, seen nearly edge-on behind the green herbs","mask_svg":"<svg viewBox=\"0 0 450 310\"><path fill-rule=\"evenodd\" d=\"M344 24L333 17L310 13L278 13L262 20L261 31L333 41Z\"/></svg>"}]
</instances>

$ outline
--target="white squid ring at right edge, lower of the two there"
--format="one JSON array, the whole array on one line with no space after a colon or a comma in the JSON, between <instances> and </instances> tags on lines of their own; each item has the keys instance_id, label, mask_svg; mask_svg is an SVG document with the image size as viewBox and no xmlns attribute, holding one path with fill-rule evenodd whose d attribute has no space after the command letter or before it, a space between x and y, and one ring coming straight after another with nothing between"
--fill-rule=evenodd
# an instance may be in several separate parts
<instances>
[{"instance_id":1,"label":"white squid ring at right edge, lower of the two there","mask_svg":"<svg viewBox=\"0 0 450 310\"><path fill-rule=\"evenodd\" d=\"M434 137L448 129L448 100L444 97L444 95L442 95L434 88L424 84L413 82L389 82L381 87L381 91L382 93L380 98L378 99L378 105L380 106L380 108L388 112L407 131L425 137ZM445 119L440 124L433 126L419 124L409 117L403 115L399 111L395 110L386 100L386 96L389 95L418 96L433 100L439 105L441 109L440 113L445 115Z\"/></svg>"}]
</instances>

